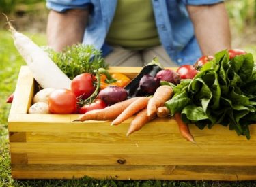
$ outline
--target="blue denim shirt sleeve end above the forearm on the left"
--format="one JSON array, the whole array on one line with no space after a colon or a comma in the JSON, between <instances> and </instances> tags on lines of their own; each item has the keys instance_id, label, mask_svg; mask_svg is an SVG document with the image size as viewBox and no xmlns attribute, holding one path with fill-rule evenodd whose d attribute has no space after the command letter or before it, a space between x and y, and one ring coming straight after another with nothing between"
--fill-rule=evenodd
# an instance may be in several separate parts
<instances>
[{"instance_id":1,"label":"blue denim shirt sleeve end above the forearm on the left","mask_svg":"<svg viewBox=\"0 0 256 187\"><path fill-rule=\"evenodd\" d=\"M74 8L87 8L91 4L90 0L46 0L46 7L57 12Z\"/></svg>"}]
</instances>

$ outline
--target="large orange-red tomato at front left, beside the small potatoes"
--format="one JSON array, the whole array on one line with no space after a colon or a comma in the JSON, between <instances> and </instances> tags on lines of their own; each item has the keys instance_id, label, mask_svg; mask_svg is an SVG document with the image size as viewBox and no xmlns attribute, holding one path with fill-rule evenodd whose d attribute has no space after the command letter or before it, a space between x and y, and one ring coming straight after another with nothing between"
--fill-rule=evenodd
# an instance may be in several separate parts
<instances>
[{"instance_id":1,"label":"large orange-red tomato at front left, beside the small potatoes","mask_svg":"<svg viewBox=\"0 0 256 187\"><path fill-rule=\"evenodd\" d=\"M71 90L54 90L48 97L49 109L53 114L72 114L76 112L76 95Z\"/></svg>"}]
</instances>

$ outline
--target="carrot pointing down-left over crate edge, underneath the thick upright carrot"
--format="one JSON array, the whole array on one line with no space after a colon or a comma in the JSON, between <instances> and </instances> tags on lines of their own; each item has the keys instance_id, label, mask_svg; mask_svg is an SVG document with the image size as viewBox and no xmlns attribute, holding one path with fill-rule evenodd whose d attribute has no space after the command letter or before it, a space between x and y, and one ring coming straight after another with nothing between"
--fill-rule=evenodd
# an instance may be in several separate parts
<instances>
[{"instance_id":1,"label":"carrot pointing down-left over crate edge, underneath the thick upright carrot","mask_svg":"<svg viewBox=\"0 0 256 187\"><path fill-rule=\"evenodd\" d=\"M139 129L141 129L147 122L149 122L150 120L154 119L154 117L156 116L156 113L154 113L152 116L147 116L147 109L143 109L141 110L141 112L139 112L135 118L132 120L132 122L130 123L130 127L126 133L126 136L134 133L135 131L138 131Z\"/></svg>"}]
</instances>

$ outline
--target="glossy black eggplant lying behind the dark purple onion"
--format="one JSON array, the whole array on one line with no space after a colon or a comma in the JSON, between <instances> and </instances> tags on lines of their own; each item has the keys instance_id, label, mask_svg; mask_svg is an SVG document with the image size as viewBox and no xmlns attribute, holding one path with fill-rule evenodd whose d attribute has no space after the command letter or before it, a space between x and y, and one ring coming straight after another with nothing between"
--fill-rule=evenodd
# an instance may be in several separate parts
<instances>
[{"instance_id":1,"label":"glossy black eggplant lying behind the dark purple onion","mask_svg":"<svg viewBox=\"0 0 256 187\"><path fill-rule=\"evenodd\" d=\"M141 78L144 75L151 75L154 77L156 76L156 73L161 70L162 68L156 63L145 65L141 72L126 87L124 87L124 89L128 92L128 98L147 95L143 93L143 90L141 90L139 86Z\"/></svg>"}]
</instances>

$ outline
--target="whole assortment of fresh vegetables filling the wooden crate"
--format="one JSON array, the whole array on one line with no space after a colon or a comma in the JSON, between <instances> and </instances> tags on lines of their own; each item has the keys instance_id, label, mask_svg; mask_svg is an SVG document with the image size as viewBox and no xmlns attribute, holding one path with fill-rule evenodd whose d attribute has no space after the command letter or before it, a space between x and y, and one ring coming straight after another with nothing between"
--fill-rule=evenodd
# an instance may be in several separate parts
<instances>
[{"instance_id":1,"label":"whole assortment of fresh vegetables filling the wooden crate","mask_svg":"<svg viewBox=\"0 0 256 187\"><path fill-rule=\"evenodd\" d=\"M163 69L154 58L130 80L122 73L109 74L92 46L47 49L47 54L8 23L16 48L44 88L33 98L29 114L79 113L75 121L113 120L111 125L135 115L127 136L156 116L174 116L182 137L192 143L188 124L199 129L221 124L250 139L249 125L256 122L256 65L244 50L202 56L177 72Z\"/></svg>"}]
</instances>

